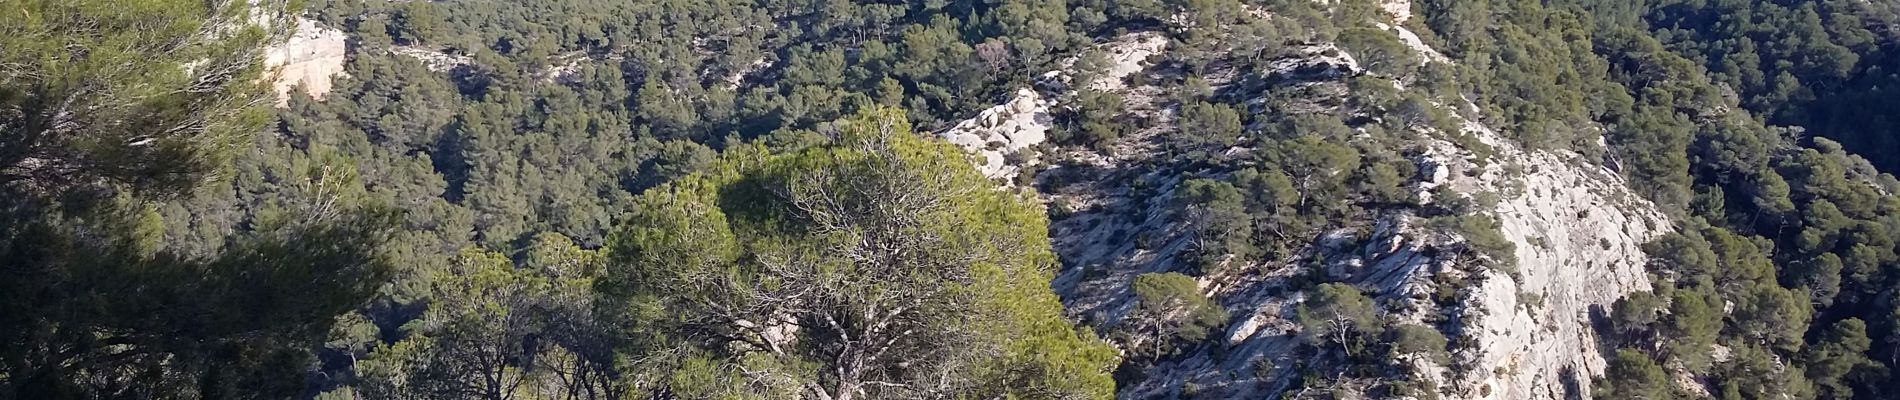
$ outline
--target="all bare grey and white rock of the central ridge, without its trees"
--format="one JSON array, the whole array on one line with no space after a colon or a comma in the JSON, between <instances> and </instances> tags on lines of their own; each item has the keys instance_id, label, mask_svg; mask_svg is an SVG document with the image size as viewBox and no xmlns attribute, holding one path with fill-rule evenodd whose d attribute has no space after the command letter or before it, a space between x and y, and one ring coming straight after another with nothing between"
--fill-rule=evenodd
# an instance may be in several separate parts
<instances>
[{"instance_id":1,"label":"all bare grey and white rock of the central ridge, without its trees","mask_svg":"<svg viewBox=\"0 0 1900 400\"><path fill-rule=\"evenodd\" d=\"M1379 28L1404 40L1423 63L1452 63L1402 28L1410 4L1387 4L1385 11L1393 25ZM1098 87L1121 93L1123 110L1144 121L1106 150L1037 146L1049 136L1051 108L1058 106L1049 99L1074 97L1070 85L1022 89L1015 100L944 133L980 154L982 169L996 178L1037 173L1022 182L1037 182L1056 216L1051 239L1064 269L1054 286L1072 315L1108 332L1138 307L1130 288L1136 277L1191 269L1186 258L1195 231L1170 201L1184 174L1170 171L1167 161L1172 157L1167 135L1178 129L1180 110L1163 99L1167 89L1161 85L1123 85L1165 82L1161 76L1170 72L1150 59L1178 51L1170 45L1182 44L1170 44L1165 32L1127 34L1100 45L1113 55L1113 64ZM1351 51L1324 42L1265 64L1269 68L1256 74L1271 76L1269 85L1229 74L1214 82L1216 91L1290 91L1313 106L1338 108L1341 99L1353 97L1349 80L1370 76L1398 87L1410 80L1370 72ZM1066 74L1051 72L1049 78ZM1129 80L1142 74L1146 80ZM1414 381L1440 398L1588 398L1590 381L1606 370L1598 326L1611 303L1649 290L1642 245L1670 231L1670 220L1632 193L1615 171L1588 157L1526 150L1509 135L1465 118L1476 112L1469 102L1433 106L1454 116L1457 123L1450 127L1457 131L1417 129L1421 135L1410 144L1417 173L1406 184L1417 203L1381 209L1370 222L1324 231L1284 256L1201 275L1201 290L1229 315L1226 330L1180 356L1125 364L1121 377L1138 379L1125 379L1119 396L1370 392L1376 381L1315 385L1311 379L1315 372L1349 364L1338 356L1309 358L1313 353L1305 349L1298 309L1319 277L1364 290L1398 324L1434 326L1450 336L1450 358L1400 360L1414 368L1387 375L1389 381ZM1224 152L1250 148L1239 144ZM1472 212L1492 216L1495 231L1509 241L1509 256L1474 256L1465 233L1433 224L1429 214L1446 209L1440 203L1472 199L1482 203ZM1127 351L1159 339L1132 334L1121 336L1119 345Z\"/></svg>"}]
</instances>

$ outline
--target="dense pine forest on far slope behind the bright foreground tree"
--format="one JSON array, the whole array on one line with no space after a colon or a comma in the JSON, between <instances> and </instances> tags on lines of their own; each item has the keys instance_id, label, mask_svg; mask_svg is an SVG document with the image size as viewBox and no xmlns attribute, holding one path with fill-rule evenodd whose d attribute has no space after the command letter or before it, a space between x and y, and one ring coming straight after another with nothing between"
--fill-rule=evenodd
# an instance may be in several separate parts
<instances>
[{"instance_id":1,"label":"dense pine forest on far slope behind the bright foreground tree","mask_svg":"<svg viewBox=\"0 0 1900 400\"><path fill-rule=\"evenodd\" d=\"M635 193L690 173L705 148L813 129L870 104L910 106L914 121L942 127L1085 42L1066 27L1064 2L980 9L315 2L314 9L363 45L348 70L353 80L338 82L323 102L293 104L306 119L287 123L293 146L336 146L369 174L424 184L372 191L418 203L443 197L437 209L466 212L412 222L445 237L437 252L454 252L464 243L450 235L469 231L498 248L540 231L595 246ZM388 45L471 63L426 70ZM1115 114L1102 112L1085 131L1112 138L1123 129ZM416 163L429 169L408 169ZM433 180L445 186L428 188Z\"/></svg>"}]
</instances>

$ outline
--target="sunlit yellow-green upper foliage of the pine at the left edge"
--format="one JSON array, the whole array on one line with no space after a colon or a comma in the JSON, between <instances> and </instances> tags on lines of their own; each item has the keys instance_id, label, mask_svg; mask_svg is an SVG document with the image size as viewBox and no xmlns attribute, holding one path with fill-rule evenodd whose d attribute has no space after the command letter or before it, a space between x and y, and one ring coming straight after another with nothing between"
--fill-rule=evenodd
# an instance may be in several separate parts
<instances>
[{"instance_id":1,"label":"sunlit yellow-green upper foliage of the pine at the left edge","mask_svg":"<svg viewBox=\"0 0 1900 400\"><path fill-rule=\"evenodd\" d=\"M256 2L285 23L285 4ZM0 184L184 193L262 123L245 2L30 0L0 17ZM205 38L213 27L230 32ZM190 68L188 68L190 64Z\"/></svg>"}]
</instances>

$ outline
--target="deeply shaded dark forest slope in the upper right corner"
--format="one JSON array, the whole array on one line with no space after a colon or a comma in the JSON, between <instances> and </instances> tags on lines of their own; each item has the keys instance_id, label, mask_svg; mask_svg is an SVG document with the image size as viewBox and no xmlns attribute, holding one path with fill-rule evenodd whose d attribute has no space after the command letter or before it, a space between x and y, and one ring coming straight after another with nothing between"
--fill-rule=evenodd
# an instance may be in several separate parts
<instances>
[{"instance_id":1,"label":"deeply shaded dark forest slope in the upper right corner","mask_svg":"<svg viewBox=\"0 0 1900 400\"><path fill-rule=\"evenodd\" d=\"M1900 144L1890 116L1873 112L1890 102L1894 42L1883 32L1894 11L1864 2L1661 2L1623 23L1653 30L1769 123L1883 154Z\"/></svg>"}]
</instances>

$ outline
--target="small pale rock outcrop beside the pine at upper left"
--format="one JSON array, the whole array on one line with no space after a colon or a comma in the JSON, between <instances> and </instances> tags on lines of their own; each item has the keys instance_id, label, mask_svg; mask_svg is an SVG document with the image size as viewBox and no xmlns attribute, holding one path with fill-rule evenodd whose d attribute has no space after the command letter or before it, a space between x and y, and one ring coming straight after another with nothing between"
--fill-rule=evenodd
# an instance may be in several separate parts
<instances>
[{"instance_id":1,"label":"small pale rock outcrop beside the pine at upper left","mask_svg":"<svg viewBox=\"0 0 1900 400\"><path fill-rule=\"evenodd\" d=\"M304 93L323 99L331 93L331 80L348 76L348 38L342 30L325 28L317 21L296 19L296 32L291 40L264 51L264 66L276 70L272 85L277 89L277 106L287 106L291 89L304 83Z\"/></svg>"}]
</instances>

